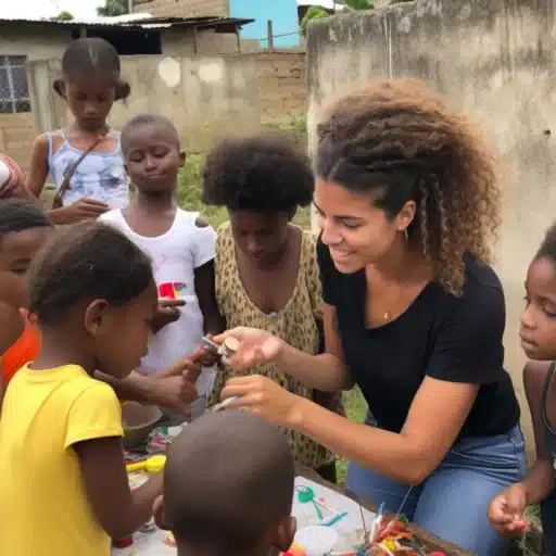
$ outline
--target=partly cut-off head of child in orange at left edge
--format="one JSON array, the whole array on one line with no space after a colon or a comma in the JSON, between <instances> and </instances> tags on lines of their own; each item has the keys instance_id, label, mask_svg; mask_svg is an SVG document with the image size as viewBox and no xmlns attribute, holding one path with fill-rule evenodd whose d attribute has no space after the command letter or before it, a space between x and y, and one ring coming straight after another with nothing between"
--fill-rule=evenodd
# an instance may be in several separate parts
<instances>
[{"instance_id":1,"label":"partly cut-off head of child in orange at left edge","mask_svg":"<svg viewBox=\"0 0 556 556\"><path fill-rule=\"evenodd\" d=\"M36 204L20 199L0 201L0 298L28 306L27 268L54 228Z\"/></svg>"}]
</instances>

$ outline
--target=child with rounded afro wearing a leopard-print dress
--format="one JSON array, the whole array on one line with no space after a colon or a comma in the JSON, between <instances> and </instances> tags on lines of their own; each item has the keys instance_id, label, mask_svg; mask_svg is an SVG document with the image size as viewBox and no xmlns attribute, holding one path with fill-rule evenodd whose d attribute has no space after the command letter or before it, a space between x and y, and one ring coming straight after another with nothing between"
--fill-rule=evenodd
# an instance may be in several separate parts
<instances>
[{"instance_id":1,"label":"child with rounded afro wearing a leopard-print dress","mask_svg":"<svg viewBox=\"0 0 556 556\"><path fill-rule=\"evenodd\" d=\"M225 206L229 222L216 239L216 301L226 326L254 326L300 352L315 355L323 343L323 296L315 238L291 223L313 199L308 157L279 134L222 141L208 154L203 200ZM343 414L341 394L319 392L262 362L249 372ZM231 376L218 372L208 405L218 402ZM332 452L301 432L287 430L295 459L336 482Z\"/></svg>"}]
</instances>

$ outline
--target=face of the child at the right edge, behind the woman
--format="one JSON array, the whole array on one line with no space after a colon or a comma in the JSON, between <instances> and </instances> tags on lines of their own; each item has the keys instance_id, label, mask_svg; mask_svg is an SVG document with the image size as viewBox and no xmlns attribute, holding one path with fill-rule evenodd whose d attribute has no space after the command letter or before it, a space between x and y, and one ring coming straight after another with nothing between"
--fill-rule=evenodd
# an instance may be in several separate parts
<instances>
[{"instance_id":1,"label":"face of the child at the right edge, behind the woman","mask_svg":"<svg viewBox=\"0 0 556 556\"><path fill-rule=\"evenodd\" d=\"M556 357L556 270L546 257L529 266L526 281L527 306L521 315L519 337L531 359Z\"/></svg>"}]
</instances>

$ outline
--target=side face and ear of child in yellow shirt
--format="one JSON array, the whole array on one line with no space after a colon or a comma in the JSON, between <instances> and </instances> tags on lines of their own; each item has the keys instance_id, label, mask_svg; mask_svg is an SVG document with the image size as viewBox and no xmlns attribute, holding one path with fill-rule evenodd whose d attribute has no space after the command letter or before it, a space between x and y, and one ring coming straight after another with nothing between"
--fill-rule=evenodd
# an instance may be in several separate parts
<instances>
[{"instance_id":1,"label":"side face and ear of child in yellow shirt","mask_svg":"<svg viewBox=\"0 0 556 556\"><path fill-rule=\"evenodd\" d=\"M97 300L87 307L85 327L94 339L100 371L122 379L139 367L141 357L147 355L157 306L156 286L151 282L128 305L113 306Z\"/></svg>"}]
</instances>

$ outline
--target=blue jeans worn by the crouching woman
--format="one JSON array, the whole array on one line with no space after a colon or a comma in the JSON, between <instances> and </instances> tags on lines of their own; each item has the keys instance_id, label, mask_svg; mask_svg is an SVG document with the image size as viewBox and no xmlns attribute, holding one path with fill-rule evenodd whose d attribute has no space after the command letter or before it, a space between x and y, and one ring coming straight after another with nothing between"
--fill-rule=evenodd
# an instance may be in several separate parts
<instances>
[{"instance_id":1,"label":"blue jeans worn by the crouching woman","mask_svg":"<svg viewBox=\"0 0 556 556\"><path fill-rule=\"evenodd\" d=\"M366 424L374 425L371 416ZM505 554L509 541L490 526L489 503L526 472L523 435L519 427L507 434L465 439L455 444L439 467L414 486L402 514L427 531L475 552L478 556ZM350 464L348 488L377 505L399 511L406 484L357 464Z\"/></svg>"}]
</instances>

